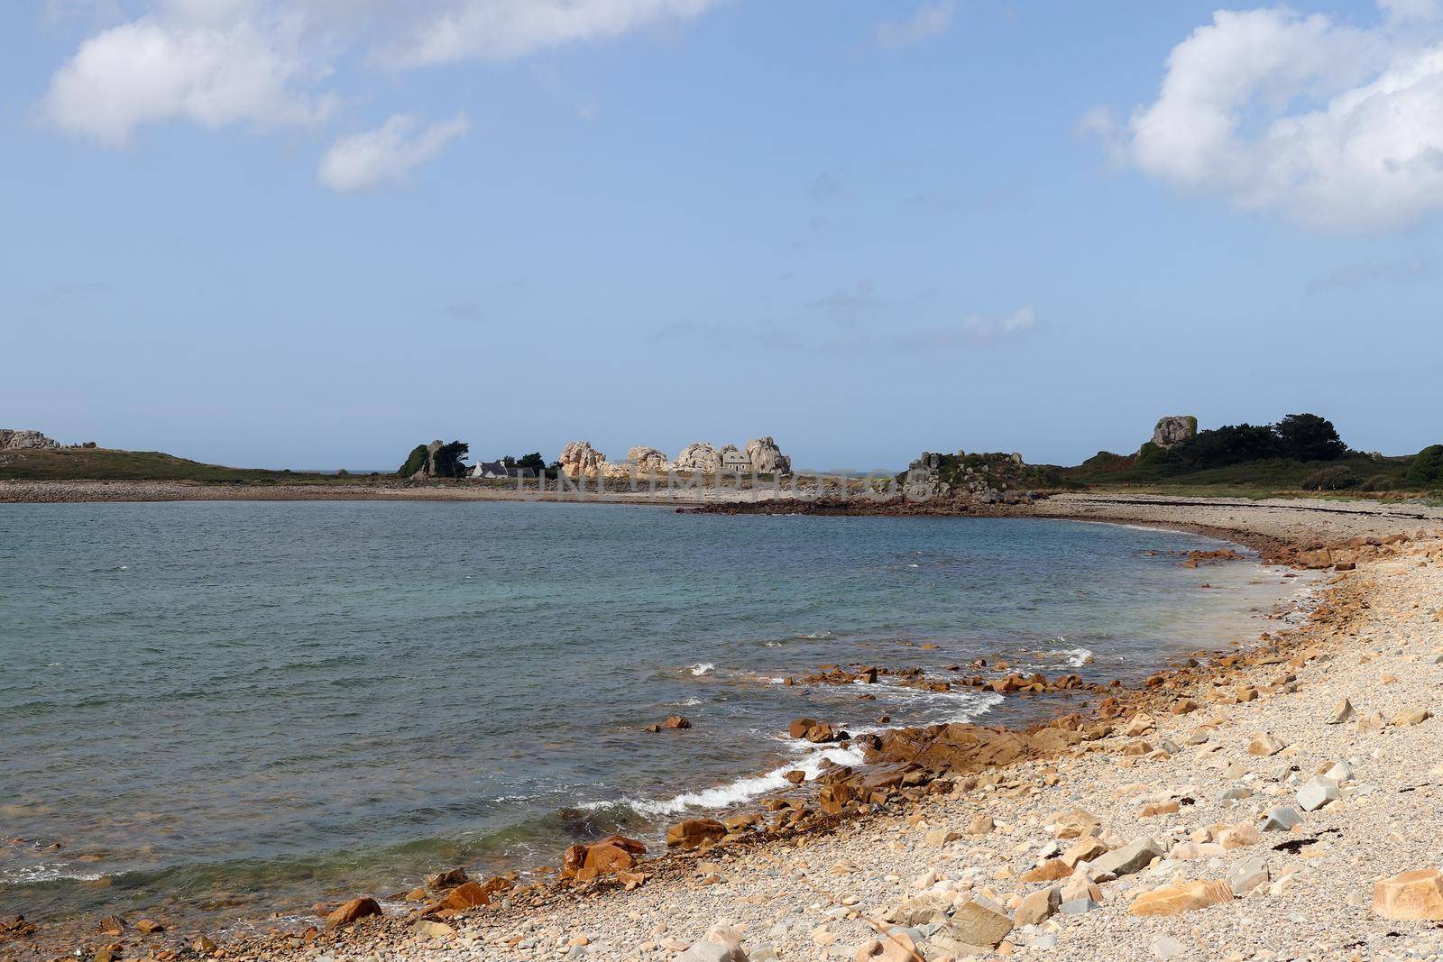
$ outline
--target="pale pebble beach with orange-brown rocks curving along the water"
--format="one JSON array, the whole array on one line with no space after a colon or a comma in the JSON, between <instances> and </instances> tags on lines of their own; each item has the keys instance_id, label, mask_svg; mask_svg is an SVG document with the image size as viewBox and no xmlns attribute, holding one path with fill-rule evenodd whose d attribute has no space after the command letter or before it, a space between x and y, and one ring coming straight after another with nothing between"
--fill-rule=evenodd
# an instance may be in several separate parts
<instances>
[{"instance_id":1,"label":"pale pebble beach with orange-brown rocks curving along the water","mask_svg":"<svg viewBox=\"0 0 1443 962\"><path fill-rule=\"evenodd\" d=\"M1087 714L857 738L867 766L760 812L681 822L659 858L605 839L569 851L557 880L442 877L219 946L113 919L81 956L1437 958L1443 519L1319 502L1042 505L1251 539L1325 584L1255 643L1219 639L1136 689L1095 692ZM817 743L846 737L799 721Z\"/></svg>"}]
</instances>

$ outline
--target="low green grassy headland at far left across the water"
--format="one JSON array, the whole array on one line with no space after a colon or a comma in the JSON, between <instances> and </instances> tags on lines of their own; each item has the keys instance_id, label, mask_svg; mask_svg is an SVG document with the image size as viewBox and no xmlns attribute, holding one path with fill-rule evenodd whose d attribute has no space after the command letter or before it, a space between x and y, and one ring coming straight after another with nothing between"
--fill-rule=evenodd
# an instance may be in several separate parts
<instances>
[{"instance_id":1,"label":"low green grassy headland at far left across the water","mask_svg":"<svg viewBox=\"0 0 1443 962\"><path fill-rule=\"evenodd\" d=\"M364 475L202 464L162 451L104 447L0 451L0 480L183 480L205 485L356 485Z\"/></svg>"}]
</instances>

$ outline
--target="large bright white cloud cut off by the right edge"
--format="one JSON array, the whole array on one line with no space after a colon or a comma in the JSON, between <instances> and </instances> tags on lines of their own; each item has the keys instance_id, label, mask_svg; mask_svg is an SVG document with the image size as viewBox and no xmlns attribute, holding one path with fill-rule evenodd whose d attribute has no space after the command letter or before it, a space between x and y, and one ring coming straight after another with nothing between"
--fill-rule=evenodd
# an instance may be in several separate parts
<instances>
[{"instance_id":1,"label":"large bright white cloud cut off by the right edge","mask_svg":"<svg viewBox=\"0 0 1443 962\"><path fill-rule=\"evenodd\" d=\"M1287 7L1221 10L1173 48L1157 100L1113 134L1126 163L1244 211L1380 229L1443 208L1437 0L1382 0L1349 26Z\"/></svg>"}]
</instances>

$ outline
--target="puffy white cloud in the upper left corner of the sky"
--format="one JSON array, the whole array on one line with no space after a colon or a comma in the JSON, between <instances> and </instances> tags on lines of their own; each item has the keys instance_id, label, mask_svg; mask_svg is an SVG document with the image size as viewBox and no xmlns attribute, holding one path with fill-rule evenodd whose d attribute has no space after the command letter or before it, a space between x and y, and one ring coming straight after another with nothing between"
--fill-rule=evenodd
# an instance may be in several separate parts
<instances>
[{"instance_id":1,"label":"puffy white cloud in the upper left corner of the sky","mask_svg":"<svg viewBox=\"0 0 1443 962\"><path fill-rule=\"evenodd\" d=\"M302 88L325 72L294 16L261 16L235 0L176 0L170 16L85 40L56 71L42 107L61 130L110 146L127 143L141 124L175 120L209 128L310 124L333 98Z\"/></svg>"}]
</instances>

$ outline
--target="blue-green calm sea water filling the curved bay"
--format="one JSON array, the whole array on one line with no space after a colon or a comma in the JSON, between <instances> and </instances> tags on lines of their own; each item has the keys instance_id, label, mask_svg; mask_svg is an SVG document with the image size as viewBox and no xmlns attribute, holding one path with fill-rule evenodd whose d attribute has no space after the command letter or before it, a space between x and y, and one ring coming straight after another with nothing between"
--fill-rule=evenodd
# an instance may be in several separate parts
<instances>
[{"instance_id":1,"label":"blue-green calm sea water filling the curved bay","mask_svg":"<svg viewBox=\"0 0 1443 962\"><path fill-rule=\"evenodd\" d=\"M0 906L244 919L654 838L779 786L797 715L1062 707L784 675L986 656L1107 681L1255 635L1277 573L1149 554L1211 547L605 505L0 506ZM671 712L694 728L641 731Z\"/></svg>"}]
</instances>

